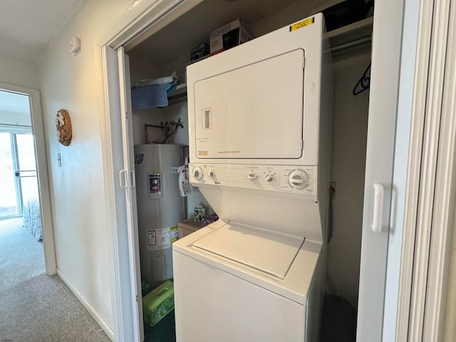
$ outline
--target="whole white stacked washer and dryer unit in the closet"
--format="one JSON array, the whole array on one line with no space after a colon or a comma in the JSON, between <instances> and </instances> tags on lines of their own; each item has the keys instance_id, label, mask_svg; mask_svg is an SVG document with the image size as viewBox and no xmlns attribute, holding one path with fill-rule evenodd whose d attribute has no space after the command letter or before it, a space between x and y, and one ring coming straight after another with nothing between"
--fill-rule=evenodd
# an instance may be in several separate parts
<instances>
[{"instance_id":1,"label":"whole white stacked washer and dryer unit in the closet","mask_svg":"<svg viewBox=\"0 0 456 342\"><path fill-rule=\"evenodd\" d=\"M173 244L178 342L318 341L332 66L321 14L187 67L190 181L219 220Z\"/></svg>"}]
</instances>

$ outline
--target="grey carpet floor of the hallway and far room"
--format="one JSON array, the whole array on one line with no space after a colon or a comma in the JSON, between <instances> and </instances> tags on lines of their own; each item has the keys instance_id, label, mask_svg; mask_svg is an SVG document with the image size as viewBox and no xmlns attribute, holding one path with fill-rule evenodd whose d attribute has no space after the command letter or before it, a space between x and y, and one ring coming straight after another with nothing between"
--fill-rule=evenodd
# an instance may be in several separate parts
<instances>
[{"instance_id":1,"label":"grey carpet floor of the hallway and far room","mask_svg":"<svg viewBox=\"0 0 456 342\"><path fill-rule=\"evenodd\" d=\"M110 341L43 259L21 219L0 221L0 341Z\"/></svg>"}]
</instances>

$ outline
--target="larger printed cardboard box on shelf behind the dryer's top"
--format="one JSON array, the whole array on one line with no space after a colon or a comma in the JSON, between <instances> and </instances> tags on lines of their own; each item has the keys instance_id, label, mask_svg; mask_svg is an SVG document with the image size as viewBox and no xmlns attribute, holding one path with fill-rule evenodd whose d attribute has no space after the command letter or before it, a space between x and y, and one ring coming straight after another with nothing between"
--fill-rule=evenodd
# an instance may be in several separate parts
<instances>
[{"instance_id":1,"label":"larger printed cardboard box on shelf behind the dryer's top","mask_svg":"<svg viewBox=\"0 0 456 342\"><path fill-rule=\"evenodd\" d=\"M234 46L245 43L250 39L252 39L252 36L245 29L244 23L242 23L241 19L236 19L212 31L209 39L211 56L229 48L234 48Z\"/></svg>"}]
</instances>

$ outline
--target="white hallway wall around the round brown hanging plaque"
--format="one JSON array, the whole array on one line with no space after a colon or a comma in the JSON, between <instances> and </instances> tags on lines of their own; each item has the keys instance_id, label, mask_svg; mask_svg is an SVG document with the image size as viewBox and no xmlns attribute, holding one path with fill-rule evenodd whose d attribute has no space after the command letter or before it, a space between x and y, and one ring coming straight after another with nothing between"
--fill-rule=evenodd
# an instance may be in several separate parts
<instances>
[{"instance_id":1,"label":"white hallway wall around the round brown hanging plaque","mask_svg":"<svg viewBox=\"0 0 456 342\"><path fill-rule=\"evenodd\" d=\"M150 6L152 0L126 11L131 2L82 1L43 53L38 66L57 267L111 337L113 251L111 227L105 224L100 142L100 120L105 108L100 46ZM82 48L73 56L68 43L75 35L81 38ZM19 82L21 79L16 81ZM33 86L38 88L38 77ZM68 147L60 145L55 134L55 115L61 108L68 110L73 125Z\"/></svg>"}]
</instances>

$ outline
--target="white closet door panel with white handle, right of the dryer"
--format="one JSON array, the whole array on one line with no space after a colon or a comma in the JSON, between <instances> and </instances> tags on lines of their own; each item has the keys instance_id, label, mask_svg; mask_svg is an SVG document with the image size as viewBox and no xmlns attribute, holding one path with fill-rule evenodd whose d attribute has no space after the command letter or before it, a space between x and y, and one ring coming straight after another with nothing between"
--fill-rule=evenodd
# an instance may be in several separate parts
<instances>
[{"instance_id":1,"label":"white closet door panel with white handle, right of the dryer","mask_svg":"<svg viewBox=\"0 0 456 342\"><path fill-rule=\"evenodd\" d=\"M356 336L359 342L383 341L403 3L375 3Z\"/></svg>"}]
</instances>

